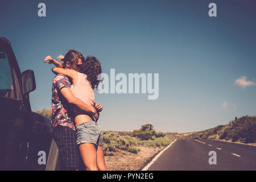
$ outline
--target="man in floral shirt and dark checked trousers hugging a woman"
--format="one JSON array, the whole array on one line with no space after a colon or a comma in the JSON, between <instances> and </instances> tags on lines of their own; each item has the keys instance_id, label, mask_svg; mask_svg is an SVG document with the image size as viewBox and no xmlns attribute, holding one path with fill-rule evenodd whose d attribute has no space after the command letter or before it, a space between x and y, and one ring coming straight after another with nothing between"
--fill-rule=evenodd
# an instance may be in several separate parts
<instances>
[{"instance_id":1,"label":"man in floral shirt and dark checked trousers hugging a woman","mask_svg":"<svg viewBox=\"0 0 256 182\"><path fill-rule=\"evenodd\" d=\"M84 56L81 53L70 50L63 58L63 68L76 69L79 64L84 63ZM62 65L47 56L44 62L50 62L61 67ZM65 75L58 74L52 82L52 128L53 138L59 148L60 156L63 163L63 170L79 169L79 149L76 145L75 124L72 121L71 105L79 107L88 114L93 114L96 118L98 114L96 109L88 106L79 98L75 97L71 91L71 82Z\"/></svg>"}]
</instances>

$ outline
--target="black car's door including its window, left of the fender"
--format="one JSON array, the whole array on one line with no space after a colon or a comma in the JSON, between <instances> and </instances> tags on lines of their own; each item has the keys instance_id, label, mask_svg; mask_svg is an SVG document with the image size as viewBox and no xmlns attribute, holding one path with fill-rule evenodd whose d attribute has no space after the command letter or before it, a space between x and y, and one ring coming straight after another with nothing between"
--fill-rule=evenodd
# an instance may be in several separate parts
<instances>
[{"instance_id":1,"label":"black car's door including its window, left of the fender","mask_svg":"<svg viewBox=\"0 0 256 182\"><path fill-rule=\"evenodd\" d=\"M22 75L9 40L0 37L0 169L25 162L31 109L22 94Z\"/></svg>"}]
</instances>

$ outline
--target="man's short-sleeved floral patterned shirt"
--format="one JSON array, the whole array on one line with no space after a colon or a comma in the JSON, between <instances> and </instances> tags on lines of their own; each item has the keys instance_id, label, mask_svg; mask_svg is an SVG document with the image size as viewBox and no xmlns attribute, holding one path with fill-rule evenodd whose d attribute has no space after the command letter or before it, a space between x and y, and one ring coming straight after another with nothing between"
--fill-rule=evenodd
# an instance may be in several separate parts
<instances>
[{"instance_id":1,"label":"man's short-sleeved floral patterned shirt","mask_svg":"<svg viewBox=\"0 0 256 182\"><path fill-rule=\"evenodd\" d=\"M52 81L52 128L61 125L75 130L72 109L60 93L62 88L71 88L71 82L67 76L58 74Z\"/></svg>"}]
</instances>

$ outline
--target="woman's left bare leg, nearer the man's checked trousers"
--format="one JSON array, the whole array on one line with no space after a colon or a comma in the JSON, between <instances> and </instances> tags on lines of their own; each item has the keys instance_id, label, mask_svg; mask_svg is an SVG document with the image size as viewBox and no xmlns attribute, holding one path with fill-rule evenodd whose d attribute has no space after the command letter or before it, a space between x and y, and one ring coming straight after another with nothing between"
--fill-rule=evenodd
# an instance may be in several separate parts
<instances>
[{"instance_id":1,"label":"woman's left bare leg, nearer the man's checked trousers","mask_svg":"<svg viewBox=\"0 0 256 182\"><path fill-rule=\"evenodd\" d=\"M82 143L79 145L82 161L87 171L98 171L96 148L92 143Z\"/></svg>"}]
</instances>

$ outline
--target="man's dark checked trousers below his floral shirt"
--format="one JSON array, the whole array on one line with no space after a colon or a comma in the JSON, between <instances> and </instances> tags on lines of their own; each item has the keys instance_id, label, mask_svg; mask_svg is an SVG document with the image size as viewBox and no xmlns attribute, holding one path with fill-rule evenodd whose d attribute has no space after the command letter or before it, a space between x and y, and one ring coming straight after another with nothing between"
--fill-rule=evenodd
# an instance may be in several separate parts
<instances>
[{"instance_id":1,"label":"man's dark checked trousers below his floral shirt","mask_svg":"<svg viewBox=\"0 0 256 182\"><path fill-rule=\"evenodd\" d=\"M67 126L56 126L53 138L59 148L64 171L75 171L79 168L79 150L76 145L76 132Z\"/></svg>"}]
</instances>

